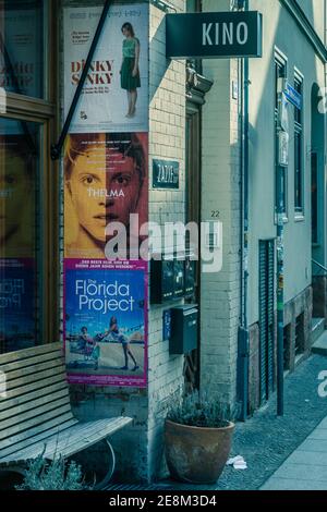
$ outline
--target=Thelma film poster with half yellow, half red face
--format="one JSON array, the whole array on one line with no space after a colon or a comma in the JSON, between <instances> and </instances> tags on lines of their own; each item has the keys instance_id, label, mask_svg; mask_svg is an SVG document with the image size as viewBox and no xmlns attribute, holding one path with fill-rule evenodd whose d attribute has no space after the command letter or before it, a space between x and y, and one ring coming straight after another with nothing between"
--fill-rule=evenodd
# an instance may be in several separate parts
<instances>
[{"instance_id":1,"label":"Thelma film poster with half yellow, half red face","mask_svg":"<svg viewBox=\"0 0 327 512\"><path fill-rule=\"evenodd\" d=\"M106 228L147 220L147 134L71 134L64 154L66 258L105 258ZM108 231L107 231L108 233ZM141 243L137 240L137 243Z\"/></svg>"}]
</instances>

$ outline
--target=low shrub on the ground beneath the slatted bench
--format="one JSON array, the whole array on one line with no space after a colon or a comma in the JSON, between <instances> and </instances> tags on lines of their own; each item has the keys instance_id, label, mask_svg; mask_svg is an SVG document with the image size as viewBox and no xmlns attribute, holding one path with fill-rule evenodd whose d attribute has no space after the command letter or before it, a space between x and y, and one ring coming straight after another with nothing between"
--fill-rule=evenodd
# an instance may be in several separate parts
<instances>
[{"instance_id":1,"label":"low shrub on the ground beneath the slatted bench","mask_svg":"<svg viewBox=\"0 0 327 512\"><path fill-rule=\"evenodd\" d=\"M83 490L82 468L74 461L68 463L62 458L46 461L41 453L29 461L24 472L23 484L17 490Z\"/></svg>"}]
</instances>

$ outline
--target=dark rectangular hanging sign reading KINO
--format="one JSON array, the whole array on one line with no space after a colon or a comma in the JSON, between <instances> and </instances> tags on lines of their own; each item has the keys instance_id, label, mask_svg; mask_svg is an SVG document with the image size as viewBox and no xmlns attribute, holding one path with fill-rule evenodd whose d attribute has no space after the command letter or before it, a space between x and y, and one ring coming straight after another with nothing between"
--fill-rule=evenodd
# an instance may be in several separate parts
<instances>
[{"instance_id":1,"label":"dark rectangular hanging sign reading KINO","mask_svg":"<svg viewBox=\"0 0 327 512\"><path fill-rule=\"evenodd\" d=\"M263 16L257 11L167 14L168 58L262 57Z\"/></svg>"}]
</instances>

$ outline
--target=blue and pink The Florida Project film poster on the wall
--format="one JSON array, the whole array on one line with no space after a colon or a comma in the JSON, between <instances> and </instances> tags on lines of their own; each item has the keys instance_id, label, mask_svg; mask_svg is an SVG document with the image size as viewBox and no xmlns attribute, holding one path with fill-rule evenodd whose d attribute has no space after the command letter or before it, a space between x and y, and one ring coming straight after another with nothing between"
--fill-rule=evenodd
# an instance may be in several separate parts
<instances>
[{"instance_id":1,"label":"blue and pink The Florida Project film poster on the wall","mask_svg":"<svg viewBox=\"0 0 327 512\"><path fill-rule=\"evenodd\" d=\"M65 259L69 382L146 387L146 279L143 261Z\"/></svg>"}]
</instances>

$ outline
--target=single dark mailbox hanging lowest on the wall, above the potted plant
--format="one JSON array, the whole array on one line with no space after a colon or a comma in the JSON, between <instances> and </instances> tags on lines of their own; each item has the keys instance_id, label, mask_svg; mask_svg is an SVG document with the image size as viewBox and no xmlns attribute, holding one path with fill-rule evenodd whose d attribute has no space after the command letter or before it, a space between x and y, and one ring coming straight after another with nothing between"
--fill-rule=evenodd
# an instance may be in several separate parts
<instances>
[{"instance_id":1,"label":"single dark mailbox hanging lowest on the wall, above the potted plant","mask_svg":"<svg viewBox=\"0 0 327 512\"><path fill-rule=\"evenodd\" d=\"M197 348L198 308L184 305L171 308L171 336L169 353L187 354Z\"/></svg>"}]
</instances>

